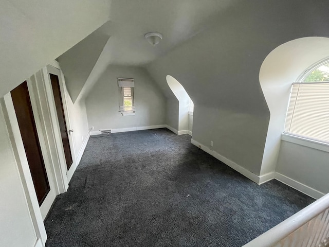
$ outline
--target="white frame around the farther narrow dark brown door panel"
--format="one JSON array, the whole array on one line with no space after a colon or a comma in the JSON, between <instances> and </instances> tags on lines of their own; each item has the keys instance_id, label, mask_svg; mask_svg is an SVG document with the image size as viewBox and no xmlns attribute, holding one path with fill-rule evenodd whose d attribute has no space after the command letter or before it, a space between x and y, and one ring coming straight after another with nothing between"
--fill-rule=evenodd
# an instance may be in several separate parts
<instances>
[{"instance_id":1,"label":"white frame around the farther narrow dark brown door panel","mask_svg":"<svg viewBox=\"0 0 329 247\"><path fill-rule=\"evenodd\" d=\"M45 82L45 87L46 87L46 91L47 91L47 97L49 99L49 102L51 101L50 108L52 108L51 112L52 112L53 124L56 125L56 127L58 128L59 137L61 139L60 140L61 149L63 150L63 153L64 153L62 138L60 136L59 121L58 121L58 116L57 116L57 112L56 112L56 105L54 102L49 73L57 75L59 77L64 117L65 117L65 122L66 122L66 129L70 130L70 129L72 129L72 127L71 127L72 125L71 125L69 110L68 110L68 105L67 105L68 99L67 99L64 75L63 75L60 65L57 61L53 61L51 64L49 64L45 68L43 68L42 71L43 71L44 78L45 78L44 82ZM73 162L69 170L67 170L66 161L64 162L68 182L71 180L72 175L75 172L75 170L77 169L77 165L78 165L73 135L74 135L74 132L72 132L71 134L68 134L69 145L70 145L70 150L71 150L71 155L72 155L72 162ZM65 158L65 156L64 156L64 158Z\"/></svg>"}]
</instances>

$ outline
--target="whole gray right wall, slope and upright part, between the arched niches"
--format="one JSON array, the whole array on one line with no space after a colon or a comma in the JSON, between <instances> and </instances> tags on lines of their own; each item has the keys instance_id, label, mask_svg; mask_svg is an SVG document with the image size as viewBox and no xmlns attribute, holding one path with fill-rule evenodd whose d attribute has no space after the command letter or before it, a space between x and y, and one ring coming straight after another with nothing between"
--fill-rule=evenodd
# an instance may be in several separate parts
<instances>
[{"instance_id":1,"label":"whole gray right wall, slope and upright part, between the arched niches","mask_svg":"<svg viewBox=\"0 0 329 247\"><path fill-rule=\"evenodd\" d=\"M270 117L259 82L261 65L271 50L289 40L327 37L325 4L241 2L147 69L166 95L172 94L167 75L186 89L196 107L193 139L209 147L215 138L214 151L259 175ZM310 15L317 17L305 17Z\"/></svg>"}]
</instances>

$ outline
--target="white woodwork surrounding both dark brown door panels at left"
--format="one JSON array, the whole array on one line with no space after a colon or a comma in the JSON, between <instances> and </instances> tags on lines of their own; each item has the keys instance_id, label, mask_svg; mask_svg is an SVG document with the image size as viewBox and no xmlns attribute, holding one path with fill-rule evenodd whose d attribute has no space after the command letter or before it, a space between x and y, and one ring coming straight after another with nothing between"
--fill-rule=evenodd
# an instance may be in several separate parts
<instances>
[{"instance_id":1,"label":"white woodwork surrounding both dark brown door panels at left","mask_svg":"<svg viewBox=\"0 0 329 247\"><path fill-rule=\"evenodd\" d=\"M57 73L55 73L53 69L57 69ZM64 75L60 70L59 63L54 61L50 64L50 66L48 65L47 67L42 68L39 72L31 76L31 78L27 79L27 85L49 185L51 183L53 192L56 195L59 195L60 193L66 192L68 189L68 183L77 168L77 156L75 153L74 139L72 138L72 135L69 135L73 164L71 165L69 171L67 171L56 105L54 103L48 70L49 72L52 72L52 74L59 75L66 125L68 130L71 129L65 80ZM38 198L36 197L10 92L7 93L3 99L0 99L0 107L2 107L5 115L5 121L15 155L17 168L20 173L35 234L38 238L35 246L44 246L47 240L47 234L43 223L45 215L41 214ZM43 204L45 202L46 199ZM50 207L53 200L49 200L46 203L48 204L48 207Z\"/></svg>"}]
</instances>

